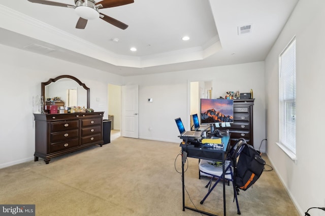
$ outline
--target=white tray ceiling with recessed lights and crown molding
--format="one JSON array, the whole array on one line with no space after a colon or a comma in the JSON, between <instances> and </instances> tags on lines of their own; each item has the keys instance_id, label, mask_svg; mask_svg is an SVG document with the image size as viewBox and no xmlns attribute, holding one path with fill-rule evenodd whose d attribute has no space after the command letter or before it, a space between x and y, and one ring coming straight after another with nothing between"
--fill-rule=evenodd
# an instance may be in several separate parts
<instances>
[{"instance_id":1,"label":"white tray ceiling with recessed lights and crown molding","mask_svg":"<svg viewBox=\"0 0 325 216\"><path fill-rule=\"evenodd\" d=\"M101 19L76 29L74 9L0 0L0 43L122 76L256 62L265 60L297 2L135 0L100 9L128 25L121 30ZM238 34L246 25L251 32Z\"/></svg>"}]
</instances>

